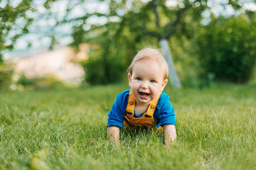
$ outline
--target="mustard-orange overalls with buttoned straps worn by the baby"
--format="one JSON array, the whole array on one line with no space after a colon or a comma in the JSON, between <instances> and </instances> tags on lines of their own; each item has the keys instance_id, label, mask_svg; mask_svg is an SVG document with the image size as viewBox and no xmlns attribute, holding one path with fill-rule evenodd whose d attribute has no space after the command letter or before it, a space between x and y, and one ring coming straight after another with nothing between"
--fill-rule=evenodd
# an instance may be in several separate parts
<instances>
[{"instance_id":1,"label":"mustard-orange overalls with buttoned straps worn by the baby","mask_svg":"<svg viewBox=\"0 0 256 170\"><path fill-rule=\"evenodd\" d=\"M134 107L136 98L132 95L132 91L130 91L126 115L124 115L124 127L155 128L153 114L160 96L161 93L159 94L159 96L157 96L157 98L149 103L149 108L147 109L146 113L143 113L142 117L134 118Z\"/></svg>"}]
</instances>

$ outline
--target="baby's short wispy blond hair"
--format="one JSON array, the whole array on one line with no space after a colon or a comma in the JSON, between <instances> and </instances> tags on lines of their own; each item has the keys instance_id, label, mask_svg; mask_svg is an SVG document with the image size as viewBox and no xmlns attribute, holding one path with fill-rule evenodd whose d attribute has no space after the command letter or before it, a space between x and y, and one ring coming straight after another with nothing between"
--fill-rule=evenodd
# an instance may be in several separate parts
<instances>
[{"instance_id":1,"label":"baby's short wispy blond hair","mask_svg":"<svg viewBox=\"0 0 256 170\"><path fill-rule=\"evenodd\" d=\"M134 64L136 62L139 62L140 60L155 60L159 63L160 68L164 72L164 79L167 79L169 74L168 65L166 63L166 60L164 59L164 56L159 52L159 50L156 50L151 47L146 47L142 50L140 50L137 55L135 55L134 59L132 60L132 63L128 67L129 74L132 75L132 69L134 67Z\"/></svg>"}]
</instances>

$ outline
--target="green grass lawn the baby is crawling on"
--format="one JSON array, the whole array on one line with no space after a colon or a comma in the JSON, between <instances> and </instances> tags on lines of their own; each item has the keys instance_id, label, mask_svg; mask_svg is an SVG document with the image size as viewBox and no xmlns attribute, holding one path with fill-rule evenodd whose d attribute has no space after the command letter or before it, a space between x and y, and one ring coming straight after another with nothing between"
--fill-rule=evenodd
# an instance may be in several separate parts
<instances>
[{"instance_id":1,"label":"green grass lawn the baby is crawling on","mask_svg":"<svg viewBox=\"0 0 256 170\"><path fill-rule=\"evenodd\" d=\"M121 132L107 112L127 85L0 91L0 169L256 169L256 86L165 89L177 143L161 132Z\"/></svg>"}]
</instances>

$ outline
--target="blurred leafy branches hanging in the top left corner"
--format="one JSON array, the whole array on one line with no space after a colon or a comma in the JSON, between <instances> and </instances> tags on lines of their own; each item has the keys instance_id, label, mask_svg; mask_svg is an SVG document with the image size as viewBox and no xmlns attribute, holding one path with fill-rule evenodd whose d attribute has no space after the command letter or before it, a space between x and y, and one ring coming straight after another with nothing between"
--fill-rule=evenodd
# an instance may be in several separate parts
<instances>
[{"instance_id":1,"label":"blurred leafy branches hanging in the top left corner","mask_svg":"<svg viewBox=\"0 0 256 170\"><path fill-rule=\"evenodd\" d=\"M50 2L46 0L45 8L50 8ZM30 32L29 26L33 23L33 15L36 5L33 0L1 0L0 1L0 63L3 62L3 50L12 50L18 38Z\"/></svg>"}]
</instances>

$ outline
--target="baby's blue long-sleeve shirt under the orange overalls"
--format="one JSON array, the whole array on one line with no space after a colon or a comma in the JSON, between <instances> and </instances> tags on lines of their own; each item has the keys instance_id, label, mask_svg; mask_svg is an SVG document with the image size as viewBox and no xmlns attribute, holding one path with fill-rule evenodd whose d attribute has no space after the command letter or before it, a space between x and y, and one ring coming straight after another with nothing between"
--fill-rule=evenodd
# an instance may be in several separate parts
<instances>
[{"instance_id":1,"label":"baby's blue long-sleeve shirt under the orange overalls","mask_svg":"<svg viewBox=\"0 0 256 170\"><path fill-rule=\"evenodd\" d=\"M126 108L128 104L129 91L123 91L117 95L117 99L114 102L111 111L108 113L107 127L116 126L118 128L123 127L124 115L126 114ZM136 115L134 111L134 118L139 118L141 115ZM164 92L161 93L156 109L153 114L156 128L163 125L176 125L176 118L174 108L171 106L169 96Z\"/></svg>"}]
</instances>

